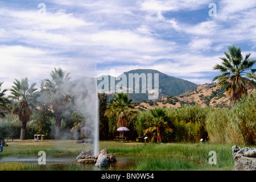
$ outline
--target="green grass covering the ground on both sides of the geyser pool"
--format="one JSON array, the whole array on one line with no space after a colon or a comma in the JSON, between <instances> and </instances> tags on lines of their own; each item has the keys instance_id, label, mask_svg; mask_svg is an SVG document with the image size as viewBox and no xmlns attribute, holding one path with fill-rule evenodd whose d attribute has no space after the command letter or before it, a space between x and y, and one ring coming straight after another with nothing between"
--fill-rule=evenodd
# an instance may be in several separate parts
<instances>
[{"instance_id":1,"label":"green grass covering the ground on both sides of the geyser pool","mask_svg":"<svg viewBox=\"0 0 256 182\"><path fill-rule=\"evenodd\" d=\"M77 144L76 140L43 140L34 139L7 142L3 148L3 156L38 156L39 151L46 155L78 156L82 150L92 150L92 144ZM100 149L106 148L116 156L131 155L140 159L131 170L232 170L232 144L211 143L168 143L156 144L139 142L121 143L101 140ZM245 146L240 146L245 147ZM255 146L249 146L255 147ZM210 151L215 151L217 164L209 164ZM0 170L38 170L21 163L0 163ZM67 168L73 170L73 168Z\"/></svg>"}]
</instances>

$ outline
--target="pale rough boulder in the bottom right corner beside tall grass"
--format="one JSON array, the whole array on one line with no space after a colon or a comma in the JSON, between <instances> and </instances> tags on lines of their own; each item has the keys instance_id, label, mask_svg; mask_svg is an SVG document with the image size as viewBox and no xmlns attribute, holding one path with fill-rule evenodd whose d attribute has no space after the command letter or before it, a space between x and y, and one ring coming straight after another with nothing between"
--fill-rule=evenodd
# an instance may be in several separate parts
<instances>
[{"instance_id":1,"label":"pale rough boulder in the bottom right corner beside tall grass","mask_svg":"<svg viewBox=\"0 0 256 182\"><path fill-rule=\"evenodd\" d=\"M256 148L232 147L235 161L233 171L256 171Z\"/></svg>"}]
</instances>

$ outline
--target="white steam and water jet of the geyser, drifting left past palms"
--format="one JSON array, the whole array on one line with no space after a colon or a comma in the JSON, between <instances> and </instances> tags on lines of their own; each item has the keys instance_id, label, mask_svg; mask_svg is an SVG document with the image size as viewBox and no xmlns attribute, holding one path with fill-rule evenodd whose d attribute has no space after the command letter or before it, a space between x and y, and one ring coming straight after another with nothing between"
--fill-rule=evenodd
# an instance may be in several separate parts
<instances>
[{"instance_id":1,"label":"white steam and water jet of the geyser, drifting left past palms","mask_svg":"<svg viewBox=\"0 0 256 182\"><path fill-rule=\"evenodd\" d=\"M66 76L69 76L67 72L65 73ZM60 128L57 127L56 123L52 123L51 136L60 140L79 139L81 137L80 129L88 127L90 131L86 131L86 138L93 140L95 155L98 152L98 93L96 79L94 77L81 77L72 81L70 81L71 79L64 79L60 83L61 78L55 77L56 84L61 86L61 91L56 91L51 87L50 89L52 90L49 90L47 84L49 81L53 81L50 79L44 80L42 82L41 97L42 104L51 105L55 117L60 117L61 119ZM60 115L56 114L58 112ZM82 121L72 130L63 127L65 123L63 119L66 119L67 122L67 119L73 113L82 115ZM57 135L60 137L56 138Z\"/></svg>"}]
</instances>

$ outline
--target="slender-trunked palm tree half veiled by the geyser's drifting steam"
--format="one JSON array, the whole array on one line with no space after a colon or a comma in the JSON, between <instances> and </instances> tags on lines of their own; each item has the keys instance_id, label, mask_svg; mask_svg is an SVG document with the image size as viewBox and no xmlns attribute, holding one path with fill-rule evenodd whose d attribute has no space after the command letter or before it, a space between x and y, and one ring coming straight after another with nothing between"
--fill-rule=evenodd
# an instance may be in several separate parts
<instances>
[{"instance_id":1,"label":"slender-trunked palm tree half veiled by the geyser's drifting steam","mask_svg":"<svg viewBox=\"0 0 256 182\"><path fill-rule=\"evenodd\" d=\"M55 113L55 139L60 139L61 119L71 98L65 88L71 79L69 74L61 68L54 68L51 72L51 80L45 79L41 86L42 97L48 100Z\"/></svg>"}]
</instances>

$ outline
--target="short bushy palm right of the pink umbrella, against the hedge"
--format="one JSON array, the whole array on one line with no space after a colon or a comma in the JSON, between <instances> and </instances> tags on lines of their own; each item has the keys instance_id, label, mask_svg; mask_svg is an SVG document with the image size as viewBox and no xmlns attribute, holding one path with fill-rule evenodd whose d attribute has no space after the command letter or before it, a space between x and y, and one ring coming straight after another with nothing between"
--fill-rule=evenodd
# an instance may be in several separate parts
<instances>
[{"instance_id":1,"label":"short bushy palm right of the pink umbrella, against the hedge","mask_svg":"<svg viewBox=\"0 0 256 182\"><path fill-rule=\"evenodd\" d=\"M144 130L144 135L150 134L152 141L156 139L158 143L161 143L164 139L163 131L165 130L167 133L172 132L172 129L168 126L166 109L155 107L154 109L150 109L150 112L151 118L148 118L145 123L149 127Z\"/></svg>"}]
</instances>

